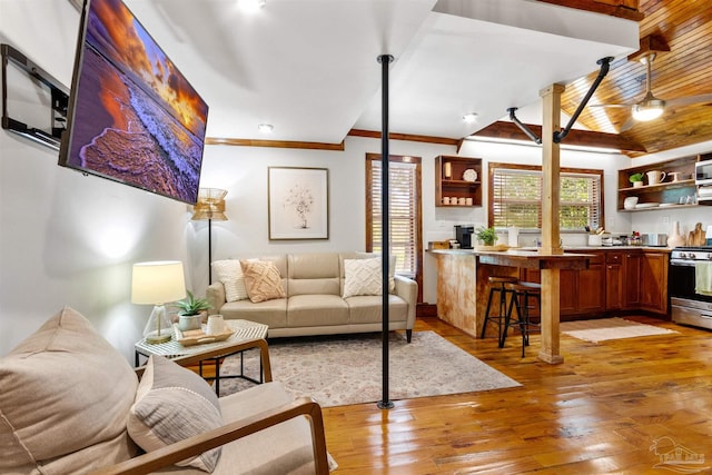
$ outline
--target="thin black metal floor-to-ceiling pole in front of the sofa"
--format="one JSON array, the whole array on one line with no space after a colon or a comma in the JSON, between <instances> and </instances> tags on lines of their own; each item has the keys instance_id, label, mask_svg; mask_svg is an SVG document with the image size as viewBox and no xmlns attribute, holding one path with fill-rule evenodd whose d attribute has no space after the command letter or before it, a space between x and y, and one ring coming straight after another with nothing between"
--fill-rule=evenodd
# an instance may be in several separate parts
<instances>
[{"instance_id":1,"label":"thin black metal floor-to-ceiling pole in front of the sofa","mask_svg":"<svg viewBox=\"0 0 712 475\"><path fill-rule=\"evenodd\" d=\"M389 206L389 187L388 187L388 66L393 62L393 56L380 55L378 62L382 67L382 132L380 132L380 229L382 229L382 320L383 320L383 398L378 402L378 408L390 409L394 407L393 402L388 398L388 267L390 263L390 206Z\"/></svg>"}]
</instances>

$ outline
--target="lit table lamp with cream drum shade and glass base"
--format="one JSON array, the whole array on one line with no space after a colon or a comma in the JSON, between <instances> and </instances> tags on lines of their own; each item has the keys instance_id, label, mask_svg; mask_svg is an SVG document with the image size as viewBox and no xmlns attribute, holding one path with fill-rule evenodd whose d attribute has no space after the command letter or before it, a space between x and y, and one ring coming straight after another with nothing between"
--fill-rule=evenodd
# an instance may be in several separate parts
<instances>
[{"instance_id":1,"label":"lit table lamp with cream drum shade and glass base","mask_svg":"<svg viewBox=\"0 0 712 475\"><path fill-rule=\"evenodd\" d=\"M186 296L186 278L182 263L179 260L158 260L134 265L131 278L131 303L154 305L144 337L150 344L170 340L172 333L166 317L168 301L180 300Z\"/></svg>"}]
</instances>

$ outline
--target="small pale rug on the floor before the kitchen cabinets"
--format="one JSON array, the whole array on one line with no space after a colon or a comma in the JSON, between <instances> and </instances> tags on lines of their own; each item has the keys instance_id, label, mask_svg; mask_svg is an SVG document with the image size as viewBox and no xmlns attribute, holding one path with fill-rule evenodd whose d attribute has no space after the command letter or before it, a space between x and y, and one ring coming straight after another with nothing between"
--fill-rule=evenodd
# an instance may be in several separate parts
<instances>
[{"instance_id":1,"label":"small pale rug on the floor before the kitchen cabinets","mask_svg":"<svg viewBox=\"0 0 712 475\"><path fill-rule=\"evenodd\" d=\"M641 336L676 334L678 331L653 325L640 324L623 318L599 318L593 320L562 321L561 333L586 342L636 338Z\"/></svg>"}]
</instances>

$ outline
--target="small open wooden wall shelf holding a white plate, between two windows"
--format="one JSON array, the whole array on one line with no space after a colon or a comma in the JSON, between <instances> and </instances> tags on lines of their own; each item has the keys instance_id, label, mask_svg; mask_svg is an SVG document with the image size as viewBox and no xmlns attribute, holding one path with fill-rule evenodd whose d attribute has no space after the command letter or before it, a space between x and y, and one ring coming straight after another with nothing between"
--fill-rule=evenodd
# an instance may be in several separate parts
<instances>
[{"instance_id":1,"label":"small open wooden wall shelf holding a white plate, between two windows","mask_svg":"<svg viewBox=\"0 0 712 475\"><path fill-rule=\"evenodd\" d=\"M481 158L435 157L435 206L482 206L482 179Z\"/></svg>"}]
</instances>

